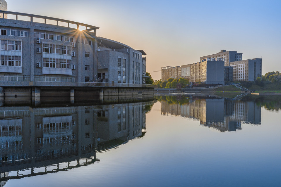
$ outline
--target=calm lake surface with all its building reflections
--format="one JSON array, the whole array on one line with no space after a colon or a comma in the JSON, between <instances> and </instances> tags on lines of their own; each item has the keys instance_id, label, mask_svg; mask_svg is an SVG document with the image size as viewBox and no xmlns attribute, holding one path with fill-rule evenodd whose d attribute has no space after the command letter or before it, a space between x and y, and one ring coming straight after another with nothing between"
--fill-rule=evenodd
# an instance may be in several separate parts
<instances>
[{"instance_id":1,"label":"calm lake surface with all its building reflections","mask_svg":"<svg viewBox=\"0 0 281 187\"><path fill-rule=\"evenodd\" d=\"M0 107L0 184L280 186L280 96Z\"/></svg>"}]
</instances>

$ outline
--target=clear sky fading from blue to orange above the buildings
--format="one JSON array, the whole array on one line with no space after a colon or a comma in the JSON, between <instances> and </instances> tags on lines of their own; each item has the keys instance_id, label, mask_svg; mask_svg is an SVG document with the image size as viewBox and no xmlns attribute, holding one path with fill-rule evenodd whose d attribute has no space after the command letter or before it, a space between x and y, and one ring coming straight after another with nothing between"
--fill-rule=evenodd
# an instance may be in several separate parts
<instances>
[{"instance_id":1,"label":"clear sky fading from blue to orange above the buildings","mask_svg":"<svg viewBox=\"0 0 281 187\"><path fill-rule=\"evenodd\" d=\"M281 1L20 1L8 11L45 15L100 27L110 38L147 55L147 71L195 63L220 50L263 58L262 73L281 70Z\"/></svg>"}]
</instances>

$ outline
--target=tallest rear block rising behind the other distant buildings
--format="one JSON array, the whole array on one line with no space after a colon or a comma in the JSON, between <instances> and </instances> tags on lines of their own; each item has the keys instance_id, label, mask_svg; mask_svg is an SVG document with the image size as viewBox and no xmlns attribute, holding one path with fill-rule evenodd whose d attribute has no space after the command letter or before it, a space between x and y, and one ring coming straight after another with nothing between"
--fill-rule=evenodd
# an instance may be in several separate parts
<instances>
[{"instance_id":1,"label":"tallest rear block rising behind the other distant buildings","mask_svg":"<svg viewBox=\"0 0 281 187\"><path fill-rule=\"evenodd\" d=\"M242 60L243 53L237 53L237 51L225 51L221 50L220 52L212 55L200 57L200 62L205 58L224 58L225 66L229 66L230 62Z\"/></svg>"}]
</instances>

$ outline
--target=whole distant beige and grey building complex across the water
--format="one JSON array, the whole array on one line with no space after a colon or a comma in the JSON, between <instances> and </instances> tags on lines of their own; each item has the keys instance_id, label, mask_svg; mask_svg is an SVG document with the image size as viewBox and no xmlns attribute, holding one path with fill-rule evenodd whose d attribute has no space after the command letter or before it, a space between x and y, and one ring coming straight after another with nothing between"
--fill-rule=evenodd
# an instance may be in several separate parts
<instances>
[{"instance_id":1,"label":"whole distant beige and grey building complex across the water","mask_svg":"<svg viewBox=\"0 0 281 187\"><path fill-rule=\"evenodd\" d=\"M261 58L242 60L242 53L222 50L216 54L200 57L200 62L162 67L162 81L180 77L190 82L225 84L232 81L255 81L261 77Z\"/></svg>"}]
</instances>

